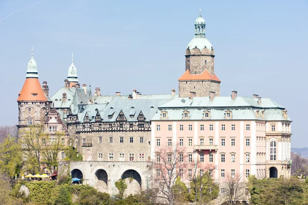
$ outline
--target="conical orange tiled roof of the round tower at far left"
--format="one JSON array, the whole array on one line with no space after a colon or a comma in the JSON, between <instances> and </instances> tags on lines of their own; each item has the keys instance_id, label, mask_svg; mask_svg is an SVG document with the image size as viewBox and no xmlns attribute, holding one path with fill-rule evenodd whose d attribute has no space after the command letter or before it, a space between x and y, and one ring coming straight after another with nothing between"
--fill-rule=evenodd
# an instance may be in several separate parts
<instances>
[{"instance_id":1,"label":"conical orange tiled roof of the round tower at far left","mask_svg":"<svg viewBox=\"0 0 308 205\"><path fill-rule=\"evenodd\" d=\"M17 101L47 101L38 78L26 78Z\"/></svg>"}]
</instances>

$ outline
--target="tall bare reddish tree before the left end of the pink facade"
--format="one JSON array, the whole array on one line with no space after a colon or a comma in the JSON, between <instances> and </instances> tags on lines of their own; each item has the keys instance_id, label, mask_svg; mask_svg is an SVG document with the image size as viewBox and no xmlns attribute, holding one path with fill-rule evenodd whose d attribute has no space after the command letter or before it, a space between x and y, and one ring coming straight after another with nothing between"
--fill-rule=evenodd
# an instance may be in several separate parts
<instances>
[{"instance_id":1,"label":"tall bare reddish tree before the left end of the pink facade","mask_svg":"<svg viewBox=\"0 0 308 205\"><path fill-rule=\"evenodd\" d=\"M175 204L174 185L177 177L183 177L188 167L185 148L179 145L162 146L155 151L152 182L157 197Z\"/></svg>"}]
</instances>

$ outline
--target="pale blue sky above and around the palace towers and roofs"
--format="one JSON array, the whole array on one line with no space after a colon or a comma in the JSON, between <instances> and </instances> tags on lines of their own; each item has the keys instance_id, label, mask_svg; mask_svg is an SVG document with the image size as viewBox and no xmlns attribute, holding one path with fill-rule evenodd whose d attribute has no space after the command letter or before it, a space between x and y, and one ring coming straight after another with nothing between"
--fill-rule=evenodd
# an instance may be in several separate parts
<instances>
[{"instance_id":1,"label":"pale blue sky above and around the palace towers and roofs","mask_svg":"<svg viewBox=\"0 0 308 205\"><path fill-rule=\"evenodd\" d=\"M0 125L18 121L16 99L31 45L50 95L64 85L71 52L81 84L102 94L178 92L185 49L202 9L221 95L259 94L287 108L292 147L308 147L305 113L308 1L0 0Z\"/></svg>"}]
</instances>

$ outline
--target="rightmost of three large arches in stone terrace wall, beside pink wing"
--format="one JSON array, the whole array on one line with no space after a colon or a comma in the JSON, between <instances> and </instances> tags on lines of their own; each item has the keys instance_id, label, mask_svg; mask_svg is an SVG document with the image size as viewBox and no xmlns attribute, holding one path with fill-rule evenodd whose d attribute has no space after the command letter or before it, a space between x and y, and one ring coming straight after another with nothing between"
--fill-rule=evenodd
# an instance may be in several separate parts
<instances>
[{"instance_id":1,"label":"rightmost of three large arches in stone terrace wall, beside pink wing","mask_svg":"<svg viewBox=\"0 0 308 205\"><path fill-rule=\"evenodd\" d=\"M127 185L124 196L141 193L141 176L136 170L126 170L123 172L121 179L124 180Z\"/></svg>"}]
</instances>

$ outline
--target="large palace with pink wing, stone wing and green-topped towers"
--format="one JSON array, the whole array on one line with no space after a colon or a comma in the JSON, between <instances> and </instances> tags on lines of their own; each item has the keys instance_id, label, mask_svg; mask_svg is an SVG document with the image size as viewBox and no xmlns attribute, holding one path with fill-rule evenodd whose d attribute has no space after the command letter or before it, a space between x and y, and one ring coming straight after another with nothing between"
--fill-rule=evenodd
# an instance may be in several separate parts
<instances>
[{"instance_id":1,"label":"large palace with pink wing, stone wing and green-topped towers","mask_svg":"<svg viewBox=\"0 0 308 205\"><path fill-rule=\"evenodd\" d=\"M290 177L291 119L286 109L256 94L241 97L232 91L220 96L214 57L201 11L185 51L179 94L133 90L102 96L99 87L92 94L89 86L80 85L72 56L64 86L49 96L47 82L41 87L38 80L32 50L17 99L17 127L21 131L44 124L51 137L63 131L63 141L78 150L83 161L63 161L62 152L60 167L69 163L72 177L110 194L117 193L114 182L119 178L133 179L125 195L149 188L148 173L157 171L151 171L155 151L163 145L184 147L187 160L213 165L211 175L217 182L236 173L242 181L249 175Z\"/></svg>"}]
</instances>

